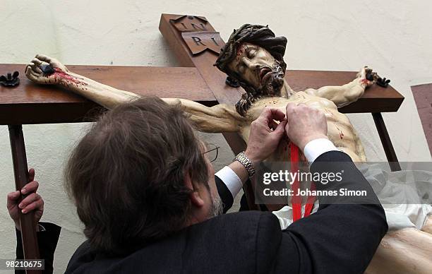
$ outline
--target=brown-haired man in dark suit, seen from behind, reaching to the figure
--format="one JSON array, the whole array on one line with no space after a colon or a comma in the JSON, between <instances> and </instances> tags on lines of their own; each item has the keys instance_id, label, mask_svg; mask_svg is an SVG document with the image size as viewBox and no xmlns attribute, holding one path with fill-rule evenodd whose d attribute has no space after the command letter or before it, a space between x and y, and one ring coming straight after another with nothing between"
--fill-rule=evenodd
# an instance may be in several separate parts
<instances>
[{"instance_id":1,"label":"brown-haired man in dark suit, seen from behind, reaching to the figure","mask_svg":"<svg viewBox=\"0 0 432 274\"><path fill-rule=\"evenodd\" d=\"M322 112L294 104L286 112L265 109L230 176L216 181L181 107L144 99L104 114L66 169L88 237L66 273L363 273L387 232L383 208L349 156L328 141ZM318 212L284 231L268 212L218 215L285 132L311 170L322 171L320 162L325 172L344 169L340 183L317 189L366 190L368 204L323 198Z\"/></svg>"}]
</instances>

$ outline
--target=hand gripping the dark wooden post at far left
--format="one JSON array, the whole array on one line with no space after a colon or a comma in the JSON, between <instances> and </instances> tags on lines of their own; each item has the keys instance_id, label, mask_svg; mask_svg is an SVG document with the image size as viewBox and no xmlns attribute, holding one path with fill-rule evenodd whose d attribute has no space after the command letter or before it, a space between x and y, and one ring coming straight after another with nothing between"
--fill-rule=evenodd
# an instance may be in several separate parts
<instances>
[{"instance_id":1,"label":"hand gripping the dark wooden post at far left","mask_svg":"<svg viewBox=\"0 0 432 274\"><path fill-rule=\"evenodd\" d=\"M34 181L35 169L30 169L28 173L30 177L30 183L26 184L23 189L21 189L21 193L28 196L26 196L23 201L18 204L18 199L20 198L20 191L8 193L8 212L9 215L11 215L13 222L15 222L17 230L21 229L20 220L18 217L18 210L21 210L23 214L29 213L34 210L35 223L39 222L40 218L42 218L42 213L44 213L44 201L42 200L40 195L36 193L39 183L37 181Z\"/></svg>"}]
</instances>

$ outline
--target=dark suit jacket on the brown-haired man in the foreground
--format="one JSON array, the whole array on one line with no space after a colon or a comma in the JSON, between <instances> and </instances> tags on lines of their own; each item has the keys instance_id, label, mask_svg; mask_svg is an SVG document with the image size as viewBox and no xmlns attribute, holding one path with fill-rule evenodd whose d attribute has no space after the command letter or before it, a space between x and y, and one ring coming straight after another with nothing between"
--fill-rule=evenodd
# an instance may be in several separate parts
<instances>
[{"instance_id":1,"label":"dark suit jacket on the brown-haired man in the foreground","mask_svg":"<svg viewBox=\"0 0 432 274\"><path fill-rule=\"evenodd\" d=\"M325 171L344 169L344 176L339 184L317 184L318 190L372 191L348 155L324 153L312 172L323 171L320 162L335 162ZM227 210L232 197L226 199L223 186L218 190ZM283 231L272 213L221 215L116 258L84 242L66 273L363 273L388 230L378 199L368 198L367 205L329 204L323 198L316 213Z\"/></svg>"}]
</instances>

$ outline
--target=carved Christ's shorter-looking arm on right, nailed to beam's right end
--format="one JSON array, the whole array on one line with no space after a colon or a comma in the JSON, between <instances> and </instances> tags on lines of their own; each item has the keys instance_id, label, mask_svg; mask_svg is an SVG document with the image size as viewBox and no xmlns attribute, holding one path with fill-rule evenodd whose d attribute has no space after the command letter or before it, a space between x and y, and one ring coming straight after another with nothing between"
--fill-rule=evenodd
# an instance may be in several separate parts
<instances>
[{"instance_id":1,"label":"carved Christ's shorter-looking arm on right, nailed to beam's right end","mask_svg":"<svg viewBox=\"0 0 432 274\"><path fill-rule=\"evenodd\" d=\"M368 78L371 76L373 78L372 81L369 81ZM305 90L305 93L310 95L315 95L318 97L323 97L335 103L337 107L344 107L346 105L351 104L352 102L356 102L361 96L364 95L364 90L373 83L376 82L378 76L376 72L372 72L371 68L365 66L361 69L357 78L353 81L339 86L328 85L322 88L318 88L315 90L313 88L309 88Z\"/></svg>"}]
</instances>

